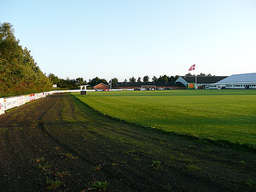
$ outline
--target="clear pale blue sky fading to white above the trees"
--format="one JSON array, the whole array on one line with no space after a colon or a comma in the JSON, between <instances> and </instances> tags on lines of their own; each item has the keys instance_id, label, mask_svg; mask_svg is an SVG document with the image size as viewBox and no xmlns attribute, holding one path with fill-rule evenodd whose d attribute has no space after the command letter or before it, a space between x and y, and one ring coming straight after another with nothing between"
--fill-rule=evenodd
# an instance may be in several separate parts
<instances>
[{"instance_id":1,"label":"clear pale blue sky fading to white above the trees","mask_svg":"<svg viewBox=\"0 0 256 192\"><path fill-rule=\"evenodd\" d=\"M5 0L3 22L62 79L256 73L256 0Z\"/></svg>"}]
</instances>

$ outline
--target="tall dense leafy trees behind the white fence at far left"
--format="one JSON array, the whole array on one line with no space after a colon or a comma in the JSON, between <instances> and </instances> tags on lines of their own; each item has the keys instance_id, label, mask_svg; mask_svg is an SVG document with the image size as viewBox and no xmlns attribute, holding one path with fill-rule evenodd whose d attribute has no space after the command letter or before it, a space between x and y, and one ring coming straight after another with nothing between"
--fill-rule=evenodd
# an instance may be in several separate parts
<instances>
[{"instance_id":1,"label":"tall dense leafy trees behind the white fence at far left","mask_svg":"<svg viewBox=\"0 0 256 192\"><path fill-rule=\"evenodd\" d=\"M10 23L0 23L0 97L38 93L52 89L30 50L23 49Z\"/></svg>"}]
</instances>

